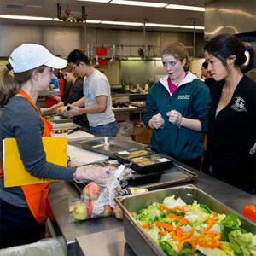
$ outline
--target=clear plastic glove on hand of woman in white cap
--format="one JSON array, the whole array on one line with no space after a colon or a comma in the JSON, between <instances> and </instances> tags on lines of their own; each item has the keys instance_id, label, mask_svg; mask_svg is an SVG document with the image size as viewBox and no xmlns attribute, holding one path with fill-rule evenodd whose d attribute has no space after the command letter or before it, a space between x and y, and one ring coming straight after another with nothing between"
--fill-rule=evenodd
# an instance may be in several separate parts
<instances>
[{"instance_id":1,"label":"clear plastic glove on hand of woman in white cap","mask_svg":"<svg viewBox=\"0 0 256 256\"><path fill-rule=\"evenodd\" d=\"M79 166L73 174L73 180L77 183L88 183L91 181L102 183L108 177L110 177L109 170L102 166Z\"/></svg>"}]
</instances>

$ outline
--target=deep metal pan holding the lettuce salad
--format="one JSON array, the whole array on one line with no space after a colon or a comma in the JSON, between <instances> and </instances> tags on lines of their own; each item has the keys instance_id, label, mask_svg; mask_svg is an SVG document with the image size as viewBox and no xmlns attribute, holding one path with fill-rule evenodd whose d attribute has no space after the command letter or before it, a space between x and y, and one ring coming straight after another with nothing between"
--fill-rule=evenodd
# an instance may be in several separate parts
<instances>
[{"instance_id":1,"label":"deep metal pan holding the lettuce salad","mask_svg":"<svg viewBox=\"0 0 256 256\"><path fill-rule=\"evenodd\" d=\"M125 197L116 198L115 201L124 212L124 232L125 240L131 246L132 250L137 255L161 255L166 256L166 253L154 242L148 235L147 231L143 230L137 220L131 216L130 212L139 212L139 210L148 207L154 202L161 202L166 196L175 195L181 197L187 204L192 204L194 200L200 204L205 204L213 211L229 214L235 212L230 207L225 206L220 201L214 199L211 195L196 188L194 185L181 186L171 189L154 190L144 194L128 195ZM248 232L256 234L256 224L247 220L241 214L237 213L241 220L241 227Z\"/></svg>"}]
</instances>

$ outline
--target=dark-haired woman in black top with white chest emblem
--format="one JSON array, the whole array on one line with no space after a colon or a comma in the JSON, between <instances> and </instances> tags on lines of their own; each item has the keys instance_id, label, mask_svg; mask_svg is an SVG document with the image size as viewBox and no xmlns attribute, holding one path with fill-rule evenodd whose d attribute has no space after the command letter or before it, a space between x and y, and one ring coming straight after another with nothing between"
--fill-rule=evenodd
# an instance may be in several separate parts
<instances>
[{"instance_id":1,"label":"dark-haired woman in black top with white chest emblem","mask_svg":"<svg viewBox=\"0 0 256 256\"><path fill-rule=\"evenodd\" d=\"M256 64L251 46L230 34L212 38L204 47L211 87L207 151L202 171L253 193L256 188L256 84L244 73ZM248 64L245 52L250 55Z\"/></svg>"}]
</instances>

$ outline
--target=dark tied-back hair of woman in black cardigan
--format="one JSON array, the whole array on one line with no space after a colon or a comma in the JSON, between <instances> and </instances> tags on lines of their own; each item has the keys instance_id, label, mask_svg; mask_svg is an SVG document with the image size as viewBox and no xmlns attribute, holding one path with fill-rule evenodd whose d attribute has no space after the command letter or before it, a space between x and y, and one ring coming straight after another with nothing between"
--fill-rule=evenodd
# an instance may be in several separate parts
<instances>
[{"instance_id":1,"label":"dark tied-back hair of woman in black cardigan","mask_svg":"<svg viewBox=\"0 0 256 256\"><path fill-rule=\"evenodd\" d=\"M205 45L204 50L209 55L218 58L227 70L229 68L226 59L230 55L236 55L235 65L241 67L247 61L247 56L245 55L246 50L249 52L250 58L247 67L241 68L241 72L247 73L256 64L256 54L253 47L245 47L238 38L230 34L220 34L212 38Z\"/></svg>"}]
</instances>

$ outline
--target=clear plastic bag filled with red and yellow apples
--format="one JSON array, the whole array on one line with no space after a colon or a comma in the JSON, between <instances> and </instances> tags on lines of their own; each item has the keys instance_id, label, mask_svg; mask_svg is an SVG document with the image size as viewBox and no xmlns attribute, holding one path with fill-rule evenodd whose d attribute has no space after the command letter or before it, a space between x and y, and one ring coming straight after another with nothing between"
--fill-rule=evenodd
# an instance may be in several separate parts
<instances>
[{"instance_id":1,"label":"clear plastic bag filled with red and yellow apples","mask_svg":"<svg viewBox=\"0 0 256 256\"><path fill-rule=\"evenodd\" d=\"M131 169L121 165L109 172L109 177L103 179L102 182L88 183L81 193L80 200L73 206L69 222L107 217L113 214L114 198L122 189L121 183L124 177L131 175L131 172L133 172Z\"/></svg>"}]
</instances>

